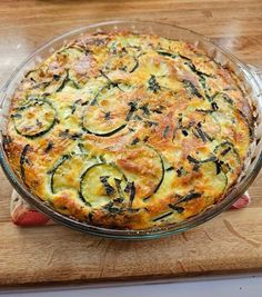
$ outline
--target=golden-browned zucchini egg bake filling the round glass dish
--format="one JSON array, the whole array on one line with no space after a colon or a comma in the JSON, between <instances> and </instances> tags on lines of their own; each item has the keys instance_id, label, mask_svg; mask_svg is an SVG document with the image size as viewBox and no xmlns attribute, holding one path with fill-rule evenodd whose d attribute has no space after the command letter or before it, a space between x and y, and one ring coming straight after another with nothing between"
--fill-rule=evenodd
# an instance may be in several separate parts
<instances>
[{"instance_id":1,"label":"golden-browned zucchini egg bake filling the round glass dish","mask_svg":"<svg viewBox=\"0 0 262 297\"><path fill-rule=\"evenodd\" d=\"M251 106L230 67L180 40L95 33L27 73L4 150L16 175L57 211L147 229L223 199L252 135Z\"/></svg>"}]
</instances>

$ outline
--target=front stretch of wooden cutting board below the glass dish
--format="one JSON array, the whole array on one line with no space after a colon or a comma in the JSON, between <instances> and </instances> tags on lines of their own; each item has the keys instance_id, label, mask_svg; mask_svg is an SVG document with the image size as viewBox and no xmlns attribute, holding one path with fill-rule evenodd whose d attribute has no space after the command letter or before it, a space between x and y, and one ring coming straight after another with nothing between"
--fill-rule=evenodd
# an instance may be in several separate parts
<instances>
[{"instance_id":1,"label":"front stretch of wooden cutting board below the glass dish","mask_svg":"<svg viewBox=\"0 0 262 297\"><path fill-rule=\"evenodd\" d=\"M95 238L62 226L21 228L0 174L0 286L131 281L262 271L262 177L251 205L184 234L149 241Z\"/></svg>"}]
</instances>

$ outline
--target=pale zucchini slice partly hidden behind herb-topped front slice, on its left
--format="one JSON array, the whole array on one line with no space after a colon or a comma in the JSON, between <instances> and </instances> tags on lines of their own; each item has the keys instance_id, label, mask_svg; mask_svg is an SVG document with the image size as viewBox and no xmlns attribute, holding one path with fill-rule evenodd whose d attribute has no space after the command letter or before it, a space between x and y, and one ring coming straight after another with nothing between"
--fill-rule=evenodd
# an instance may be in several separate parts
<instances>
[{"instance_id":1,"label":"pale zucchini slice partly hidden behind herb-topped front slice, on its left","mask_svg":"<svg viewBox=\"0 0 262 297\"><path fill-rule=\"evenodd\" d=\"M64 155L51 170L52 192L58 192L66 188L79 190L81 175L94 162L94 160L88 159L85 154Z\"/></svg>"}]
</instances>

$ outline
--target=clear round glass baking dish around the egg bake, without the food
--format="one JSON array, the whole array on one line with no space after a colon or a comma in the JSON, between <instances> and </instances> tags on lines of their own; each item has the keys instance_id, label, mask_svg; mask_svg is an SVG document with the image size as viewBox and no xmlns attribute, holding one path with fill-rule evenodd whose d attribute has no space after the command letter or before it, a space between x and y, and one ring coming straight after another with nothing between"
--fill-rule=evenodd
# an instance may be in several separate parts
<instances>
[{"instance_id":1,"label":"clear round glass baking dish around the egg bake, without the food","mask_svg":"<svg viewBox=\"0 0 262 297\"><path fill-rule=\"evenodd\" d=\"M213 57L218 62L222 65L230 65L242 79L243 86L250 97L251 105L253 106L253 116L255 118L255 138L250 147L250 155L246 158L244 170L239 178L236 185L228 192L226 197L219 201L216 205L206 209L204 212L194 216L181 224L173 224L161 228L152 228L144 230L119 230L107 229L92 225L88 225L78 221L73 218L67 217L57 212L48 204L41 201L36 197L30 189L28 189L21 180L12 171L7 156L2 147L2 139L6 133L7 119L9 113L9 106L12 99L12 95L18 83L23 76L39 62L50 56L54 50L62 47L69 40L77 38L84 33L92 33L97 31L122 31L129 30L138 33L154 33L170 39L180 39L189 41L199 48L206 50L210 57ZM256 78L255 78L256 77ZM150 239L159 238L168 235L178 234L193 228L206 220L218 216L222 211L226 210L251 185L254 178L258 176L262 167L262 93L259 87L258 76L249 67L239 61L230 52L215 46L209 39L194 33L190 30L179 28L171 24L157 23L157 22L143 22L143 21L109 21L102 23L91 24L84 28L80 28L52 39L43 47L36 50L24 62L22 62L18 69L13 72L6 86L0 92L0 162L2 169L10 180L13 188L27 200L30 205L44 212L53 220L66 225L72 229L83 231L90 235L97 235L102 237L110 237L115 239Z\"/></svg>"}]
</instances>

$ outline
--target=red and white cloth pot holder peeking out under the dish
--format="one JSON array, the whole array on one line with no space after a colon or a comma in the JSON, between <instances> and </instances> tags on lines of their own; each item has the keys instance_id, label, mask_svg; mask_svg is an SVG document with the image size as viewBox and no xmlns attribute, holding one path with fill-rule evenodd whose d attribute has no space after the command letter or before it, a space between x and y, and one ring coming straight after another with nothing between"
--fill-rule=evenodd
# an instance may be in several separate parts
<instances>
[{"instance_id":1,"label":"red and white cloth pot holder peeking out under the dish","mask_svg":"<svg viewBox=\"0 0 262 297\"><path fill-rule=\"evenodd\" d=\"M245 192L236 202L233 204L231 209L243 208L248 206L249 202L250 196ZM28 205L14 190L11 197L10 211L12 221L19 226L29 227L54 224L49 217Z\"/></svg>"}]
</instances>

